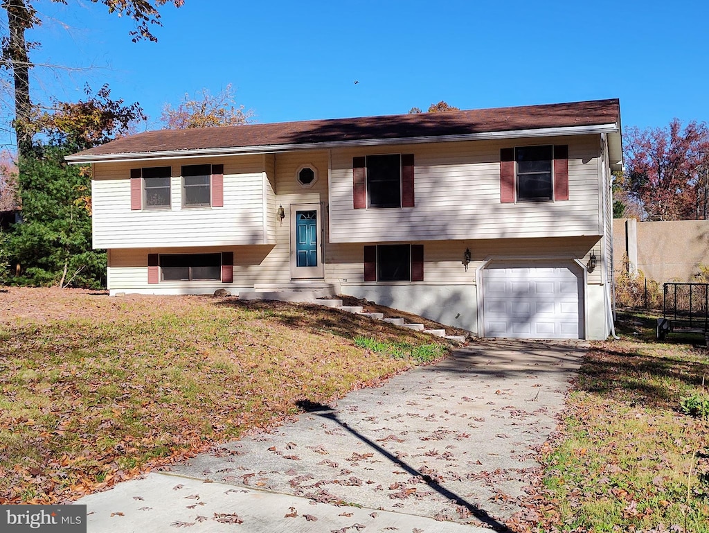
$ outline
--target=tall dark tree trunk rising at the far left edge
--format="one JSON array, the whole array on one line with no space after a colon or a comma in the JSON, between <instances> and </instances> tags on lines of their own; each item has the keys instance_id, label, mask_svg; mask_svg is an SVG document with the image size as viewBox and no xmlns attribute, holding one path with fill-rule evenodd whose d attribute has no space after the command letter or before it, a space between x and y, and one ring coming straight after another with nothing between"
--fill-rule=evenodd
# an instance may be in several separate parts
<instances>
[{"instance_id":1,"label":"tall dark tree trunk rising at the far left edge","mask_svg":"<svg viewBox=\"0 0 709 533\"><path fill-rule=\"evenodd\" d=\"M30 60L25 30L35 23L35 11L28 9L26 0L5 0L2 5L7 11L9 39L4 50L6 62L12 67L15 90L15 120L13 126L17 136L17 152L20 157L32 150L32 128L30 126L32 104L30 103Z\"/></svg>"}]
</instances>

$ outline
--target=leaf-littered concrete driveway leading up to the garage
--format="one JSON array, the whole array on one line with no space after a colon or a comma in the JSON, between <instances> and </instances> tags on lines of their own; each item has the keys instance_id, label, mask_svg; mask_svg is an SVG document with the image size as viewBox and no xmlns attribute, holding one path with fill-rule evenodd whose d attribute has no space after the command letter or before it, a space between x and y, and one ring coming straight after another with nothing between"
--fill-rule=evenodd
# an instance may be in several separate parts
<instances>
[{"instance_id":1,"label":"leaf-littered concrete driveway leading up to the garage","mask_svg":"<svg viewBox=\"0 0 709 533\"><path fill-rule=\"evenodd\" d=\"M77 503L89 532L503 530L584 349L476 342Z\"/></svg>"}]
</instances>

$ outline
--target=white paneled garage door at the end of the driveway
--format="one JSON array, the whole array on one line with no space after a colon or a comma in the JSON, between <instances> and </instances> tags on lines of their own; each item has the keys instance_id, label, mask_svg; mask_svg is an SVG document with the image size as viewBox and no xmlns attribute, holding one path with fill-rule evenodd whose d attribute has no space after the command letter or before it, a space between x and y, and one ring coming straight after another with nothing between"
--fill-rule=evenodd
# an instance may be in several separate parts
<instances>
[{"instance_id":1,"label":"white paneled garage door at the end of the driveway","mask_svg":"<svg viewBox=\"0 0 709 533\"><path fill-rule=\"evenodd\" d=\"M571 267L490 265L483 273L484 336L580 339L579 277Z\"/></svg>"}]
</instances>

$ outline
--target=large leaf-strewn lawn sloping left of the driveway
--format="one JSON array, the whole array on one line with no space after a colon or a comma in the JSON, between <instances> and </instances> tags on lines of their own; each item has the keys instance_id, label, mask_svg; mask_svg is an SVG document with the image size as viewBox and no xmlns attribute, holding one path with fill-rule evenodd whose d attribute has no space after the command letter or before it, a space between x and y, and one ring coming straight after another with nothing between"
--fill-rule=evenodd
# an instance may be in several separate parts
<instances>
[{"instance_id":1,"label":"large leaf-strewn lawn sloping left of the driveway","mask_svg":"<svg viewBox=\"0 0 709 533\"><path fill-rule=\"evenodd\" d=\"M0 304L0 503L101 490L449 346L308 304L18 288Z\"/></svg>"}]
</instances>

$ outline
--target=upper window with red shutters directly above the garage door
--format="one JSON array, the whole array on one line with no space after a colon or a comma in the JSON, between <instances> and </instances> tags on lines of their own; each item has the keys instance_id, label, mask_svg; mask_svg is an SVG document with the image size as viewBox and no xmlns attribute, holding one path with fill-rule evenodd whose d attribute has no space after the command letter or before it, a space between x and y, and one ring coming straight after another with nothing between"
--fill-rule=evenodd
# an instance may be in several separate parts
<instances>
[{"instance_id":1,"label":"upper window with red shutters directly above the garage door","mask_svg":"<svg viewBox=\"0 0 709 533\"><path fill-rule=\"evenodd\" d=\"M568 145L519 146L500 150L502 203L568 199Z\"/></svg>"}]
</instances>

